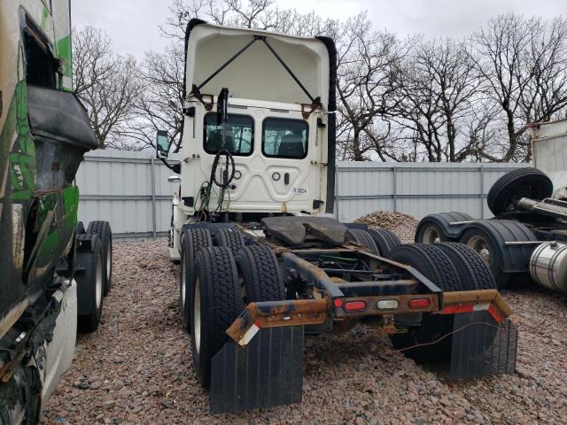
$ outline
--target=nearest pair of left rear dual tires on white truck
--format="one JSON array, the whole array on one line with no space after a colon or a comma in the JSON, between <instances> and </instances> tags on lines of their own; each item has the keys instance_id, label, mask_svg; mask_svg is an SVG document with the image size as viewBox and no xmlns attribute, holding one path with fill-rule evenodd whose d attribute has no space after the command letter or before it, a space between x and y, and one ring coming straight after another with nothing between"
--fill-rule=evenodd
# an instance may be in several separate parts
<instances>
[{"instance_id":1,"label":"nearest pair of left rear dual tires on white truck","mask_svg":"<svg viewBox=\"0 0 567 425\"><path fill-rule=\"evenodd\" d=\"M268 247L245 246L236 254L226 246L201 248L190 285L191 352L199 383L210 388L213 357L229 341L226 330L245 305L284 298L282 273Z\"/></svg>"}]
</instances>

